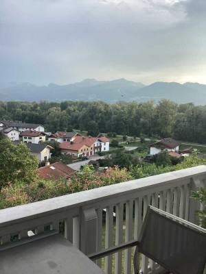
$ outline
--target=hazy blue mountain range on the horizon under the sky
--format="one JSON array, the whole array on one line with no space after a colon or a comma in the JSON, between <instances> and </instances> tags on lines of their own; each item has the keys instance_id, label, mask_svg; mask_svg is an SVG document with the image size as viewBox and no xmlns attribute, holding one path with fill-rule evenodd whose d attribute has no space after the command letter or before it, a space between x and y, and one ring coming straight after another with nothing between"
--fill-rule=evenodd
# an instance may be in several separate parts
<instances>
[{"instance_id":1,"label":"hazy blue mountain range on the horizon under the sky","mask_svg":"<svg viewBox=\"0 0 206 274\"><path fill-rule=\"evenodd\" d=\"M198 83L155 82L148 86L126 79L82 82L48 86L30 83L0 82L0 101L139 101L145 102L166 98L176 103L206 105L206 85Z\"/></svg>"}]
</instances>

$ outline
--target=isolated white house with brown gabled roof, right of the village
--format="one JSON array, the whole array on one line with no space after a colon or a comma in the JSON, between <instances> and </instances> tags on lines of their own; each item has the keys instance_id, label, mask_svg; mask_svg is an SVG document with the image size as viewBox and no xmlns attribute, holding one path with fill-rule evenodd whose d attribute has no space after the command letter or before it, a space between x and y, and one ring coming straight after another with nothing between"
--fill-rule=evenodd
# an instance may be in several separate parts
<instances>
[{"instance_id":1,"label":"isolated white house with brown gabled roof, right of the village","mask_svg":"<svg viewBox=\"0 0 206 274\"><path fill-rule=\"evenodd\" d=\"M150 145L150 154L155 155L161 151L179 152L180 142L172 138L164 138Z\"/></svg>"}]
</instances>

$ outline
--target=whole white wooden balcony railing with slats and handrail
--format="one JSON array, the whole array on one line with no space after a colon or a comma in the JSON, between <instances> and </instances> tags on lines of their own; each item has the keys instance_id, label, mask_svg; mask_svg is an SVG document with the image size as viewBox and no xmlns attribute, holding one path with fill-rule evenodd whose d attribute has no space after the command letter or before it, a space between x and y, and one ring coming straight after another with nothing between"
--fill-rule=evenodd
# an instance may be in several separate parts
<instances>
[{"instance_id":1,"label":"whole white wooden balcony railing with slats and handrail","mask_svg":"<svg viewBox=\"0 0 206 274\"><path fill-rule=\"evenodd\" d=\"M12 236L28 237L45 227L64 225L65 238L89 255L122 242L138 240L148 204L194 223L200 204L190 191L206 186L206 166L174 171L104 186L71 195L0 210L1 245ZM105 232L105 235L104 235ZM133 273L133 248L97 260L106 273ZM155 262L141 256L144 274L163 273Z\"/></svg>"}]
</instances>

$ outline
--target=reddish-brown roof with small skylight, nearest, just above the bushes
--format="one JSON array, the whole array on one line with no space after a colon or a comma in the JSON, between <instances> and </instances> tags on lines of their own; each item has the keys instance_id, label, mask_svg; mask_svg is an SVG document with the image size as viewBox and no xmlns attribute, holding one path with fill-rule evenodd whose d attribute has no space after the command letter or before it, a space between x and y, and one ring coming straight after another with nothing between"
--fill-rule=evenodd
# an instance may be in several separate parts
<instances>
[{"instance_id":1,"label":"reddish-brown roof with small skylight, nearest, just above the bushes","mask_svg":"<svg viewBox=\"0 0 206 274\"><path fill-rule=\"evenodd\" d=\"M54 164L49 164L49 166L43 166L38 171L38 176L41 179L59 179L60 177L69 178L75 174L75 170L67 166L62 162L56 162Z\"/></svg>"}]
</instances>

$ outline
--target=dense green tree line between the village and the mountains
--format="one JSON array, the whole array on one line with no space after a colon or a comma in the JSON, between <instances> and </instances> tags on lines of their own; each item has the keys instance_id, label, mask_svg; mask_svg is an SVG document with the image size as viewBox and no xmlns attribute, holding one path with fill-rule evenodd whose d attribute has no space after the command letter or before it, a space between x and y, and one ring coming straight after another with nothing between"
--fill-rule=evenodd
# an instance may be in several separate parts
<instances>
[{"instance_id":1,"label":"dense green tree line between the village and the mountains","mask_svg":"<svg viewBox=\"0 0 206 274\"><path fill-rule=\"evenodd\" d=\"M178 105L168 99L157 104L153 101L0 102L0 119L40 123L51 132L82 129L95 134L157 135L200 143L206 140L206 105Z\"/></svg>"}]
</instances>

